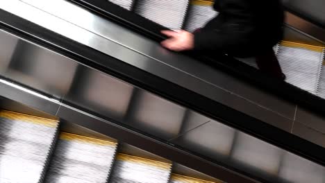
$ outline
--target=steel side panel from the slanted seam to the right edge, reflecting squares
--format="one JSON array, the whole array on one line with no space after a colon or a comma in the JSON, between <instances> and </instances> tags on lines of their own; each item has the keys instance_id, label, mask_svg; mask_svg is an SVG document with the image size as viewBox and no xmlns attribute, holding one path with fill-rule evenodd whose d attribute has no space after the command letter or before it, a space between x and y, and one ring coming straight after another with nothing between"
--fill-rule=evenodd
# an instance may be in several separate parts
<instances>
[{"instance_id":1,"label":"steel side panel from the slanted seam to the right edge, reflecting squares","mask_svg":"<svg viewBox=\"0 0 325 183\"><path fill-rule=\"evenodd\" d=\"M195 128L172 143L258 177L267 177L270 182L319 182L325 177L324 167L217 121Z\"/></svg>"}]
</instances>

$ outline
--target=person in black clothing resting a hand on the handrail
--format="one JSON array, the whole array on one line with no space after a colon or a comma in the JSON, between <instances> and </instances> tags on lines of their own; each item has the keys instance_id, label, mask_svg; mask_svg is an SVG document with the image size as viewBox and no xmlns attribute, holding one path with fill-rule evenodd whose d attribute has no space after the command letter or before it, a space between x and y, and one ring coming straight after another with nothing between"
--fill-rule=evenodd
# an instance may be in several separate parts
<instances>
[{"instance_id":1,"label":"person in black clothing resting a hand on the handrail","mask_svg":"<svg viewBox=\"0 0 325 183\"><path fill-rule=\"evenodd\" d=\"M272 47L283 36L281 0L216 0L219 15L194 33L163 30L161 44L172 51L204 55L224 53L235 58L255 57L261 71L285 79Z\"/></svg>"}]
</instances>

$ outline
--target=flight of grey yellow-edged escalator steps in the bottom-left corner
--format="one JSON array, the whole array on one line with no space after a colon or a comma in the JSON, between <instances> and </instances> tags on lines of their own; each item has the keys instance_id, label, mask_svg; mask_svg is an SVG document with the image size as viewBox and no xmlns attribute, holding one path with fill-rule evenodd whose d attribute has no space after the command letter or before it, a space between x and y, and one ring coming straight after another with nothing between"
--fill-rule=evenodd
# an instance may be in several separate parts
<instances>
[{"instance_id":1,"label":"flight of grey yellow-edged escalator steps in the bottom-left corner","mask_svg":"<svg viewBox=\"0 0 325 183\"><path fill-rule=\"evenodd\" d=\"M1 110L0 181L210 182L172 173L167 160L120 153L113 139L61 132L59 123Z\"/></svg>"}]
</instances>

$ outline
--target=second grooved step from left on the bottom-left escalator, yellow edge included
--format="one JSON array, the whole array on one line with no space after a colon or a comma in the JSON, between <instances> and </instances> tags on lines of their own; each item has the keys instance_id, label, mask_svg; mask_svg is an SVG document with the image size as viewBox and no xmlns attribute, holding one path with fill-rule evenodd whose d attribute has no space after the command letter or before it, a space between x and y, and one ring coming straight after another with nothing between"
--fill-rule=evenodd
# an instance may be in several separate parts
<instances>
[{"instance_id":1,"label":"second grooved step from left on the bottom-left escalator, yellow edge included","mask_svg":"<svg viewBox=\"0 0 325 183\"><path fill-rule=\"evenodd\" d=\"M45 182L107 182L117 143L61 133Z\"/></svg>"}]
</instances>

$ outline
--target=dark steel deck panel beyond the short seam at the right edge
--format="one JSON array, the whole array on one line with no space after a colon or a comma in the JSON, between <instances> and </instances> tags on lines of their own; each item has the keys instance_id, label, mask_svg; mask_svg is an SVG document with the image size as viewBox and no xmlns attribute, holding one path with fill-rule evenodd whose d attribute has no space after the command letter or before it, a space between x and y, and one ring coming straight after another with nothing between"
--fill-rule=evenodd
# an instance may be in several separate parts
<instances>
[{"instance_id":1,"label":"dark steel deck panel beyond the short seam at the right edge","mask_svg":"<svg viewBox=\"0 0 325 183\"><path fill-rule=\"evenodd\" d=\"M303 123L310 128L325 133L325 116L311 112L310 110L307 110L301 106L297 107L295 121L299 121L299 123Z\"/></svg>"}]
</instances>

